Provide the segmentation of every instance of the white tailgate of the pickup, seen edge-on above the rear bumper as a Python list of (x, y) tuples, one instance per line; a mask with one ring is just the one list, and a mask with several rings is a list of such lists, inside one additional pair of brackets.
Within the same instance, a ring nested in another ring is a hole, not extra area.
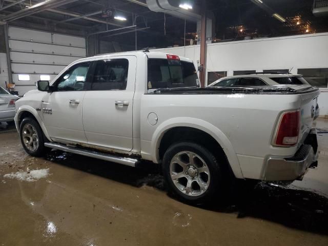
[(303, 91), (299, 94), (301, 99), (301, 129), (299, 139), (301, 139), (302, 143), (312, 129), (319, 94), (319, 89), (313, 89), (313, 87), (310, 92)]

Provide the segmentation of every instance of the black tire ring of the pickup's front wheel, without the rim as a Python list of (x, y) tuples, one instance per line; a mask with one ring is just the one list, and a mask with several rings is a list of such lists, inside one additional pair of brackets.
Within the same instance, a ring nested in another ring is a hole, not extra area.
[[(28, 149), (23, 140), (23, 129), (24, 129), (24, 126), (26, 126), (27, 124), (31, 125), (37, 132), (36, 138), (38, 140), (38, 145), (37, 145), (37, 148), (35, 148), (35, 150)], [(19, 137), (20, 137), (20, 142), (22, 142), (22, 146), (23, 146), (25, 152), (28, 153), (29, 155), (43, 156), (46, 153), (46, 150), (48, 148), (45, 147), (44, 134), (43, 134), (43, 131), (40, 128), (38, 122), (36, 122), (35, 119), (27, 117), (22, 120), (22, 122), (20, 123), (20, 126), (19, 126)]]

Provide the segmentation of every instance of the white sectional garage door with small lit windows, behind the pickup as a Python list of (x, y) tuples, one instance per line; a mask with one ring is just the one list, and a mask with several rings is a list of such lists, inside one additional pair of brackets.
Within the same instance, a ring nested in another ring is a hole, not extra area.
[(86, 57), (84, 37), (9, 27), (13, 82), (19, 95), (37, 80), (52, 80), (72, 61)]

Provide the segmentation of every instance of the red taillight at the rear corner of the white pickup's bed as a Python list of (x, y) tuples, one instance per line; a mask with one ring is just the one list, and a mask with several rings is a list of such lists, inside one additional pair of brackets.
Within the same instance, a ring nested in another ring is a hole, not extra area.
[(294, 146), (298, 141), (300, 112), (290, 111), (281, 115), (275, 137), (276, 146)]

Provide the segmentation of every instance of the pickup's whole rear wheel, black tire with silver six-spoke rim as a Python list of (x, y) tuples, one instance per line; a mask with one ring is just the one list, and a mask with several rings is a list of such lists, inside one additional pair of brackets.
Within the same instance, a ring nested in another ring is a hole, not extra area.
[(217, 158), (193, 142), (179, 142), (169, 147), (162, 168), (170, 192), (183, 201), (205, 203), (216, 199), (223, 190)]

